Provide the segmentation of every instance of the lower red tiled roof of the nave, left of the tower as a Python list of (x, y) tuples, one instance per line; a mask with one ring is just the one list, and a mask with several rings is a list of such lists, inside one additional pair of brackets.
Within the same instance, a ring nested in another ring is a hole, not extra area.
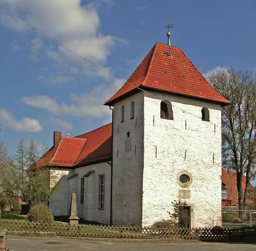
[(34, 167), (82, 166), (111, 156), (112, 124), (87, 132), (77, 137), (61, 137), (56, 147), (51, 147)]

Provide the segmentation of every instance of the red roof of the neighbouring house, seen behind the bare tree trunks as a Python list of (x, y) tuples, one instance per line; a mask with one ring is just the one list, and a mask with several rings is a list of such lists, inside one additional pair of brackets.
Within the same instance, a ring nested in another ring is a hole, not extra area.
[[(237, 175), (233, 171), (226, 171), (222, 168), (222, 182), (225, 184), (225, 187), (227, 188), (227, 199), (231, 199), (231, 205), (238, 205), (238, 188), (237, 188)], [(242, 189), (243, 193), (245, 190), (245, 184), (246, 184), (246, 176), (243, 176), (242, 178)], [(250, 195), (248, 196), (248, 203), (252, 203), (253, 200), (253, 186), (251, 183), (249, 184), (248, 191), (250, 192)], [(228, 195), (230, 194), (230, 195)]]

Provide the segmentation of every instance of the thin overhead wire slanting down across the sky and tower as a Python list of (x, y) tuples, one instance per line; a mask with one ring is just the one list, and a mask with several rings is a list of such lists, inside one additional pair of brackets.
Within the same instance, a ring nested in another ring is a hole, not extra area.
[[(8, 12), (7, 10), (4, 10), (3, 8), (0, 8), (0, 10), (2, 10), (3, 12), (5, 12), (5, 13), (8, 14), (9, 16), (15, 18), (16, 20), (20, 21), (21, 23), (25, 24), (25, 25), (28, 26), (29, 28), (32, 28), (35, 32), (39, 33), (40, 35), (45, 36), (47, 39), (50, 39), (50, 40), (53, 41), (55, 44), (58, 44), (60, 47), (63, 47), (64, 49), (68, 50), (69, 52), (71, 52), (71, 53), (77, 55), (78, 57), (82, 58), (83, 60), (86, 60), (87, 62), (91, 63), (92, 65), (94, 65), (94, 66), (96, 66), (96, 67), (98, 67), (98, 68), (100, 68), (101, 70), (103, 70), (103, 71), (105, 71), (105, 72), (107, 72), (107, 73), (113, 75), (114, 77), (116, 77), (116, 78), (118, 78), (118, 79), (124, 81), (125, 83), (128, 83), (129, 85), (132, 85), (134, 88), (137, 88), (138, 90), (143, 91), (144, 93), (147, 93), (148, 95), (152, 96), (153, 98), (160, 99), (162, 102), (164, 102), (164, 103), (166, 103), (166, 104), (170, 104), (170, 105), (172, 105), (173, 107), (175, 107), (175, 108), (177, 108), (177, 109), (179, 109), (179, 110), (181, 110), (181, 111), (183, 111), (183, 112), (185, 112), (185, 113), (187, 113), (187, 114), (190, 114), (190, 115), (192, 115), (192, 116), (195, 116), (195, 117), (198, 118), (198, 119), (201, 119), (200, 116), (197, 116), (197, 115), (192, 114), (192, 113), (190, 113), (190, 112), (188, 112), (188, 111), (185, 111), (184, 109), (181, 109), (181, 108), (179, 108), (179, 107), (177, 107), (177, 106), (174, 106), (173, 104), (171, 104), (170, 101), (162, 100), (161, 98), (158, 98), (158, 97), (155, 96), (154, 94), (152, 94), (152, 93), (150, 93), (150, 92), (148, 92), (148, 91), (145, 91), (145, 90), (143, 90), (142, 88), (137, 87), (136, 85), (133, 85), (132, 83), (129, 83), (129, 82), (128, 82), (127, 80), (125, 80), (124, 78), (119, 77), (118, 75), (114, 74), (113, 72), (110, 72), (110, 71), (107, 70), (106, 68), (104, 68), (104, 67), (102, 67), (102, 66), (100, 66), (100, 65), (98, 65), (98, 64), (96, 64), (96, 63), (94, 63), (94, 62), (92, 62), (91, 60), (88, 60), (86, 57), (83, 57), (82, 55), (78, 54), (77, 52), (74, 52), (73, 50), (71, 50), (71, 49), (69, 49), (68, 47), (64, 46), (63, 44), (61, 44), (60, 42), (56, 41), (55, 39), (51, 38), (51, 37), (48, 36), (47, 34), (45, 34), (45, 33), (41, 32), (41, 31), (39, 31), (37, 28), (34, 28), (34, 27), (31, 26), (29, 23), (26, 23), (25, 21), (21, 20), (20, 18), (14, 16), (14, 15), (11, 14), (10, 12)], [(210, 122), (210, 121), (209, 121), (208, 123), (210, 123), (210, 124), (212, 124), (212, 125), (214, 125), (214, 126), (216, 126), (216, 127), (221, 128), (221, 126), (216, 125), (216, 124), (214, 124), (214, 123), (212, 123), (212, 122)], [(237, 134), (237, 135), (240, 135), (240, 134), (238, 134), (237, 132), (232, 132), (232, 133)], [(240, 136), (242, 136), (242, 135), (240, 135)]]

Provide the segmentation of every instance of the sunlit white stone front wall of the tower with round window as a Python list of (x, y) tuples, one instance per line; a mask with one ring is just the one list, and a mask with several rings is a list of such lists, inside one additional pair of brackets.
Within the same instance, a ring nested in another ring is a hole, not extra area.
[[(189, 190), (190, 199), (182, 200), (194, 206), (192, 227), (220, 225), (221, 106), (171, 94), (154, 94), (159, 99), (147, 94), (144, 97), (142, 224), (168, 219), (167, 211), (172, 212), (171, 202), (178, 200), (179, 190)], [(171, 101), (173, 120), (160, 118), (161, 100)], [(201, 120), (203, 107), (209, 109), (210, 122)], [(187, 188), (177, 183), (177, 173), (182, 170), (193, 176)]]

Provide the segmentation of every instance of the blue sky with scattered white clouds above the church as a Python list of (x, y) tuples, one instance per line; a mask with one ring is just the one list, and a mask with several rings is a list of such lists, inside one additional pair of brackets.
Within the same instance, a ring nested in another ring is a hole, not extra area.
[[(0, 0), (0, 7), (127, 79), (156, 41), (180, 47), (203, 74), (256, 73), (256, 1)], [(74, 56), (0, 10), (0, 140), (11, 153), (53, 131), (76, 136), (111, 122), (104, 102), (122, 81)]]

